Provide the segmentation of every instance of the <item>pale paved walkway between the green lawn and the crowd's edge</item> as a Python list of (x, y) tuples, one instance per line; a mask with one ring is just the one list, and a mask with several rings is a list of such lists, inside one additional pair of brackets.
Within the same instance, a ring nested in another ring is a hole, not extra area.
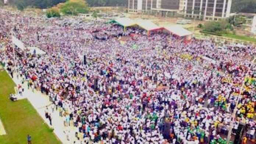
[[(10, 76), (10, 74), (9, 74)], [(11, 76), (10, 76), (11, 78)], [(16, 85), (21, 84), (21, 78), (17, 78), (16, 73), (13, 74), (13, 81)], [(54, 129), (54, 134), (57, 136), (57, 138), (61, 141), (63, 144), (73, 144), (75, 138), (75, 132), (78, 132), (78, 128), (74, 127), (73, 125), (70, 126), (64, 126), (64, 117), (59, 116), (59, 112), (56, 111), (56, 108), (54, 109), (54, 112), (52, 112), (52, 109), (50, 108), (50, 105), (52, 102), (50, 102), (49, 97), (45, 94), (42, 94), (40, 91), (34, 90), (34, 93), (32, 92), (32, 89), (28, 89), (27, 82), (24, 84), (21, 84), (22, 88), (24, 88), (24, 92), (22, 93), (22, 96), (24, 98), (27, 98), (28, 101), (33, 105), (33, 107), (36, 109), (38, 114), (42, 117), (42, 119), (45, 121), (45, 123)], [(23, 98), (23, 99), (24, 99)], [(52, 117), (52, 126), (50, 125), (49, 119), (45, 118), (45, 109), (46, 106), (48, 107), (48, 111), (51, 114)], [(69, 141), (67, 140), (67, 135), (64, 133), (64, 130), (67, 132), (70, 130), (69, 135)]]

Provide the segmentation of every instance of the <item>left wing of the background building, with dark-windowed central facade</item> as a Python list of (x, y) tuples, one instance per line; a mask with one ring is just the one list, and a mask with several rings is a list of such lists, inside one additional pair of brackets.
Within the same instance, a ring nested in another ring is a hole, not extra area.
[(128, 0), (128, 12), (175, 15), (184, 11), (185, 0)]

